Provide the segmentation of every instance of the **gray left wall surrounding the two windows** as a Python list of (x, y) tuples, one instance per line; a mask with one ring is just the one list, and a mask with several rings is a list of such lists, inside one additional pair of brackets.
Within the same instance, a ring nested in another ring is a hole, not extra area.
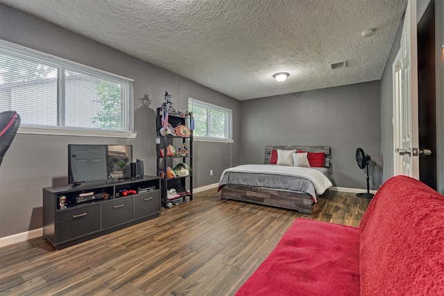
[(42, 187), (67, 183), (68, 143), (132, 144), (155, 175), (155, 108), (165, 89), (176, 110), (187, 110), (189, 97), (233, 110), (234, 143), (195, 142), (194, 186), (217, 183), (223, 168), (239, 164), (239, 101), (4, 4), (0, 39), (134, 79), (137, 132), (136, 139), (17, 134), (0, 168), (0, 237), (42, 227)]

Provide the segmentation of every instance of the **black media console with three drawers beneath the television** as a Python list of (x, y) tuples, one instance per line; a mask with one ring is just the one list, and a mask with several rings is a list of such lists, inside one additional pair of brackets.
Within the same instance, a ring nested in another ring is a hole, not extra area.
[(43, 189), (43, 236), (56, 250), (159, 216), (160, 177)]

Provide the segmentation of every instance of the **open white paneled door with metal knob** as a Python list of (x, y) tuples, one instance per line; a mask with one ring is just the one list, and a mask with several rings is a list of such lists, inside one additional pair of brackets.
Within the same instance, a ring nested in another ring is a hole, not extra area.
[(409, 0), (400, 52), (393, 63), (393, 159), (395, 175), (407, 175), (419, 180), (416, 40), (416, 0)]

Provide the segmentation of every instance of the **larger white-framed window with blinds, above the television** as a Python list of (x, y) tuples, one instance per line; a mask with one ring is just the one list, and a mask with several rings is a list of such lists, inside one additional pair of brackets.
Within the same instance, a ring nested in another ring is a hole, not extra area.
[(0, 42), (0, 111), (21, 130), (133, 137), (133, 104), (133, 80)]

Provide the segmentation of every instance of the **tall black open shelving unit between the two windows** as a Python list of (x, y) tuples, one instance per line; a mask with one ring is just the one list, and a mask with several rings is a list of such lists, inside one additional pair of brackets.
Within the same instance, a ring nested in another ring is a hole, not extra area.
[[(186, 125), (189, 127), (189, 116), (174, 116), (169, 114), (168, 123), (173, 128), (178, 125)], [(189, 137), (173, 136), (167, 134), (163, 136), (160, 134), (162, 128), (162, 108), (157, 108), (156, 116), (156, 150), (157, 150), (157, 174), (160, 176), (160, 200), (162, 207), (171, 208), (174, 204), (182, 202), (189, 202), (193, 200), (193, 134)], [(186, 156), (167, 156), (168, 146), (172, 145), (178, 153), (182, 144), (185, 144), (188, 149)], [(160, 155), (160, 150), (163, 149), (164, 155)], [(167, 168), (174, 168), (176, 165), (183, 163), (189, 167), (189, 175), (168, 177)], [(178, 198), (170, 199), (168, 191), (175, 189), (177, 193), (185, 192)]]

